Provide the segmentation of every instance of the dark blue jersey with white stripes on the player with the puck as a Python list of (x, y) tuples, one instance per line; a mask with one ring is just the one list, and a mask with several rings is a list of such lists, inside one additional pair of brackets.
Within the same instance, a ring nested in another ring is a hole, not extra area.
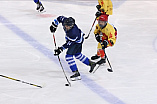
[[(64, 16), (59, 16), (57, 19), (54, 19), (54, 23), (58, 26), (59, 23), (63, 23), (67, 18)], [(65, 39), (66, 43), (62, 45), (63, 49), (69, 48), (73, 44), (82, 44), (84, 41), (84, 33), (77, 27), (75, 24), (70, 30), (66, 31), (64, 26), (63, 29), (66, 33)]]

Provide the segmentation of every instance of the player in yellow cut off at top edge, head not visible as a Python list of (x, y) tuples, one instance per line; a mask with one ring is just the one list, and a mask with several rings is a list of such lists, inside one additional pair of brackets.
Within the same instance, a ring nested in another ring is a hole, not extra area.
[[(106, 15), (107, 18), (109, 15), (112, 15), (113, 5), (111, 0), (98, 0), (99, 5), (96, 6), (98, 11), (96, 12), (96, 17), (100, 15)], [(99, 19), (99, 18), (97, 18)]]

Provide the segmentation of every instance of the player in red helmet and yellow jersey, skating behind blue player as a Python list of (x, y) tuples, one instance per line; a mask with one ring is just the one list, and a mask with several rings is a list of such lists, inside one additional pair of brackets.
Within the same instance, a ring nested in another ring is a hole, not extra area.
[(92, 56), (91, 59), (99, 59), (96, 64), (106, 63), (105, 48), (113, 46), (117, 39), (117, 29), (110, 25), (107, 15), (101, 15), (94, 30), (95, 38), (98, 41), (97, 54)]

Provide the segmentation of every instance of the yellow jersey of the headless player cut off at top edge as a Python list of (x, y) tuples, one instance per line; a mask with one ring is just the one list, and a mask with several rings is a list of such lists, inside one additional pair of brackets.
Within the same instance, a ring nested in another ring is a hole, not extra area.
[(111, 0), (98, 0), (98, 3), (101, 5), (101, 11), (104, 11), (107, 15), (112, 15), (113, 5)]

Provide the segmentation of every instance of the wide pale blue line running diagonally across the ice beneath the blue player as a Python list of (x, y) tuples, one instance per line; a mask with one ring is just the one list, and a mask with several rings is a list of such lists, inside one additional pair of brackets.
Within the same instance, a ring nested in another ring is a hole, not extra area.
[[(12, 24), (10, 21), (8, 21), (6, 18), (4, 18), (1, 15), (0, 15), (0, 22), (8, 29), (10, 29), (13, 33), (15, 33), (20, 38), (22, 38), (27, 43), (29, 43), (31, 46), (33, 46), (35, 49), (37, 49), (45, 56), (47, 56), (49, 59), (51, 59), (54, 63), (58, 64), (58, 61), (56, 61), (57, 58), (54, 57), (53, 52), (50, 49), (40, 44), (37, 40), (33, 39), (33, 37), (31, 37), (29, 34), (22, 31), (20, 28)], [(68, 70), (68, 68), (66, 68), (66, 70)], [(86, 75), (82, 75), (82, 83), (90, 90), (92, 90), (94, 93), (96, 93), (98, 96), (103, 98), (105, 101), (109, 102), (110, 104), (125, 104), (119, 98), (115, 97), (107, 90), (105, 90), (103, 87), (96, 84), (92, 79), (88, 78)]]

